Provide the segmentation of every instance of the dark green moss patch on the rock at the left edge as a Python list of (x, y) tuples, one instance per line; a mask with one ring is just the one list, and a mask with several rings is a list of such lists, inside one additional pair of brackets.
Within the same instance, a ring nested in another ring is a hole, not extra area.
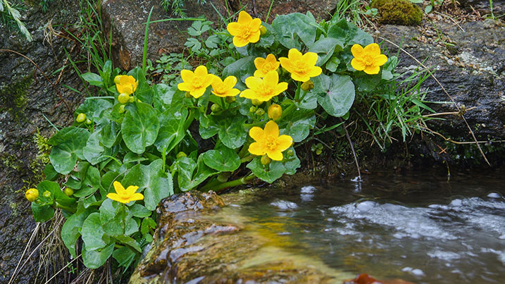
[(19, 120), (27, 104), (26, 91), (32, 85), (32, 75), (16, 80), (11, 85), (0, 85), (0, 111), (8, 111)]

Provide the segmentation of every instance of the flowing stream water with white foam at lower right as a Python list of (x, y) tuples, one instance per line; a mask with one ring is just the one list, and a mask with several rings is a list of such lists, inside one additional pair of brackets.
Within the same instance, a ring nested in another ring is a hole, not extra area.
[(505, 176), (366, 175), (230, 206), (275, 247), (349, 273), (505, 283)]

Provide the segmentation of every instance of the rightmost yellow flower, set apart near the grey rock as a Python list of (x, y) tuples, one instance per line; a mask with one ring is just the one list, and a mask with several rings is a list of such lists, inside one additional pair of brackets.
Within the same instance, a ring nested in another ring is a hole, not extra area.
[(351, 47), (351, 66), (358, 71), (365, 71), (367, 74), (378, 74), (380, 66), (387, 61), (387, 56), (380, 54), (379, 44), (368, 44), (364, 49), (359, 44)]

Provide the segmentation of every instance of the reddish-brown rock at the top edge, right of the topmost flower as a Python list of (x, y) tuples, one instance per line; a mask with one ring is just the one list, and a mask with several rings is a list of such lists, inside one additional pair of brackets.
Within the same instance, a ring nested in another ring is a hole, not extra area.
[[(242, 6), (246, 7), (245, 10), (251, 14), (256, 15), (256, 18), (261, 18), (261, 20), (266, 20), (266, 16), (270, 9), (270, 0), (256, 0), (256, 11), (254, 11), (252, 0), (243, 1), (231, 1), (232, 8), (238, 11)], [(338, 0), (276, 0), (273, 1), (273, 6), (268, 16), (268, 23), (272, 23), (276, 15), (285, 15), (289, 13), (307, 13), (310, 11), (316, 20), (325, 19), (328, 20), (332, 16), (332, 12), (335, 11), (337, 7)]]

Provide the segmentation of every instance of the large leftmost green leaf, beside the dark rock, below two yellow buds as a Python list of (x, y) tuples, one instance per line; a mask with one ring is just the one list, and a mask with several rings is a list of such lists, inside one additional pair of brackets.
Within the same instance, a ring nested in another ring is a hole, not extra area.
[(52, 145), (49, 160), (54, 169), (63, 175), (70, 173), (77, 158), (85, 159), (82, 149), (86, 146), (89, 132), (82, 128), (63, 128), (51, 137), (48, 144)]

